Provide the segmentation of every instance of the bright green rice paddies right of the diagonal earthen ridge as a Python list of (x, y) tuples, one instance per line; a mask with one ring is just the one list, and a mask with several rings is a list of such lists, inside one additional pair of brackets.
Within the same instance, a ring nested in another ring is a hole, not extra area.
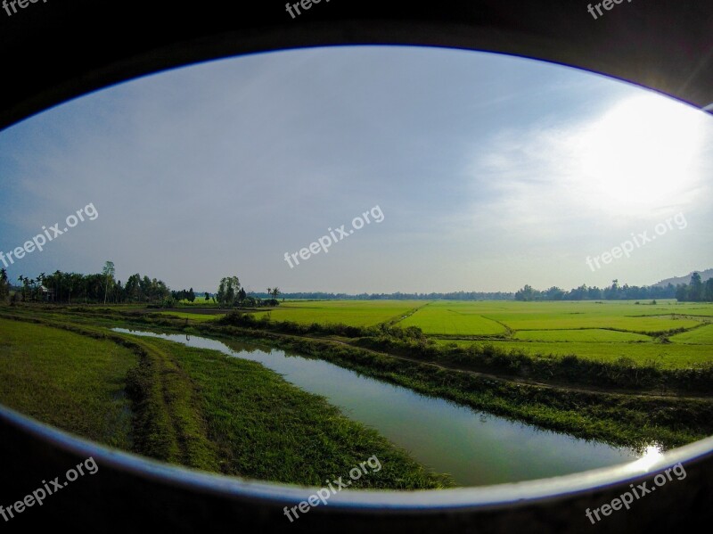
[[(453, 316), (457, 312), (457, 322)], [(440, 344), (492, 343), (531, 355), (569, 355), (683, 367), (713, 360), (713, 305), (661, 301), (433, 302), (400, 325), (422, 325)], [(484, 321), (485, 320), (485, 321)], [(489, 323), (503, 325), (493, 336)], [(670, 333), (685, 329), (684, 333)], [(483, 336), (485, 339), (473, 340)], [(487, 338), (491, 337), (490, 340)], [(459, 339), (461, 338), (461, 339)]]

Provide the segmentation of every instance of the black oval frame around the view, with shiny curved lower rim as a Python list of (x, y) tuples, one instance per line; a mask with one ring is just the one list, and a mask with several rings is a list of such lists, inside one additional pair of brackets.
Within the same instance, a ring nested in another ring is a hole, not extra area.
[[(307, 2), (307, 0), (305, 0)], [(310, 0), (311, 2), (312, 0)], [(62, 0), (0, 11), (0, 128), (88, 92), (245, 53), (325, 45), (428, 45), (508, 53), (601, 72), (713, 112), (713, 6), (704, 0), (585, 2), (333, 0), (291, 19), (281, 2), (176, 6)], [(48, 399), (51, 401), (51, 399)], [(88, 456), (84, 477), (4, 524), (77, 531), (658, 532), (713, 518), (713, 438), (636, 471), (618, 466), (542, 481), (425, 492), (345, 492), (290, 522), (284, 506), (315, 489), (243, 481), (102, 448), (0, 407), (0, 504), (12, 504)], [(686, 477), (593, 525), (611, 503), (681, 463)], [(0, 522), (3, 524), (3, 522)]]

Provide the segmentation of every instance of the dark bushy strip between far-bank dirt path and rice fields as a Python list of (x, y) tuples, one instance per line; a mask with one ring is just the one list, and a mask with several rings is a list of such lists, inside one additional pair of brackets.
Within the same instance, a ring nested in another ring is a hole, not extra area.
[[(397, 356), (436, 362), (455, 369), (499, 374), (511, 378), (536, 380), (572, 386), (627, 390), (677, 390), (681, 392), (713, 394), (713, 362), (706, 346), (685, 346), (697, 349), (701, 360), (684, 366), (664, 366), (659, 361), (636, 361), (630, 357), (578, 357), (563, 354), (530, 354), (512, 342), (433, 341), (414, 326), (398, 328), (390, 325), (356, 327), (349, 325), (299, 325), (289, 321), (274, 322), (240, 312), (230, 313), (217, 325), (237, 326), (253, 332), (287, 333), (299, 336), (334, 336), (357, 347), (373, 349)], [(210, 328), (211, 325), (208, 324)], [(534, 343), (524, 343), (534, 345)], [(563, 345), (564, 343), (561, 343)], [(569, 345), (572, 345), (568, 343)], [(550, 344), (552, 347), (556, 344)], [(669, 345), (659, 345), (668, 348)], [(644, 348), (645, 349), (645, 348)], [(611, 351), (616, 350), (610, 347)], [(669, 359), (676, 359), (669, 357)]]

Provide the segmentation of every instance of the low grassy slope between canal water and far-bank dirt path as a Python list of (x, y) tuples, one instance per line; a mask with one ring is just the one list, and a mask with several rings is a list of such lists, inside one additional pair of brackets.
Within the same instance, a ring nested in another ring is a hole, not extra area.
[(713, 403), (709, 399), (560, 390), (398, 359), (334, 341), (229, 325), (204, 324), (197, 329), (213, 337), (265, 340), (427, 395), (612, 445), (643, 448), (655, 441), (671, 448), (713, 433)]

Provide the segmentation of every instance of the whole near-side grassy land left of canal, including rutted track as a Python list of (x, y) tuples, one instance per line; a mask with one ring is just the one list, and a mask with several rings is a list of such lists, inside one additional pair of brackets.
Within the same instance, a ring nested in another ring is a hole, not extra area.
[(24, 311), (17, 314), (21, 321), (0, 318), (0, 401), (45, 423), (169, 463), (250, 479), (320, 486), (377, 456), (381, 471), (354, 488), (453, 484), (325, 398), (255, 362), (111, 333), (86, 314), (76, 324), (73, 316), (61, 321), (58, 310), (49, 319)]

